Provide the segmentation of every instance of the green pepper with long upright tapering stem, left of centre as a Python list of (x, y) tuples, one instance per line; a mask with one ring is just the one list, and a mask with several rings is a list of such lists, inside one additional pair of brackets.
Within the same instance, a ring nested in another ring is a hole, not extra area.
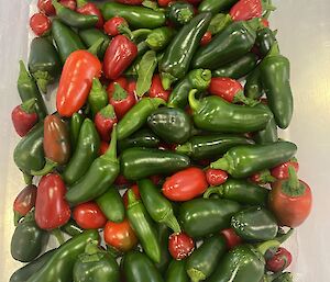
[(117, 129), (114, 126), (108, 150), (95, 159), (86, 174), (69, 188), (65, 195), (66, 200), (72, 204), (79, 204), (102, 195), (114, 182), (119, 170)]

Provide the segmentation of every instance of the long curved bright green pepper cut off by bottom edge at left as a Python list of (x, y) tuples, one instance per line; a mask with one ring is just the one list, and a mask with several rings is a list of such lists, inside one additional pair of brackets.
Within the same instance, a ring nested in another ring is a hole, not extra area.
[(73, 269), (78, 256), (81, 255), (90, 240), (98, 240), (96, 230), (87, 230), (63, 244), (44, 264), (26, 282), (73, 281)]

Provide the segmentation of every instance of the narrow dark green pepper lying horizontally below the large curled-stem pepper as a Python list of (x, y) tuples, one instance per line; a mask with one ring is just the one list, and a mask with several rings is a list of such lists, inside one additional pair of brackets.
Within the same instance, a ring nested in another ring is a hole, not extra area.
[(253, 144), (253, 140), (239, 135), (193, 136), (187, 143), (176, 147), (176, 151), (188, 155), (193, 159), (215, 159), (230, 148), (239, 145)]

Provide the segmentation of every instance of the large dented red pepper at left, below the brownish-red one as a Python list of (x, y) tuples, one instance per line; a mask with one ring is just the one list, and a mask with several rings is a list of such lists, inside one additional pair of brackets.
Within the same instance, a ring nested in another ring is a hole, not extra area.
[(40, 228), (55, 229), (69, 221), (72, 211), (65, 193), (65, 183), (58, 174), (50, 173), (41, 179), (35, 201), (35, 222)]

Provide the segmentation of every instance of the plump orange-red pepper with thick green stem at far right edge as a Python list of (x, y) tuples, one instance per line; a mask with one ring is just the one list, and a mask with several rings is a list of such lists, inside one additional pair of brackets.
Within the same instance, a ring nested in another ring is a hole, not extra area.
[(288, 168), (288, 173), (289, 179), (272, 184), (268, 206), (279, 225), (297, 227), (310, 213), (312, 195), (309, 185), (297, 178), (294, 167)]

